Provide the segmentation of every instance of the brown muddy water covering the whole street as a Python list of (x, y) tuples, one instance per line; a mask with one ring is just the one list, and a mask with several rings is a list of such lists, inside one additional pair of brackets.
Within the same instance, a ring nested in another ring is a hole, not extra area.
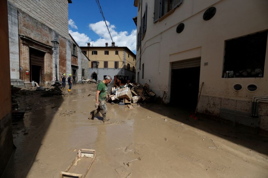
[(267, 137), (206, 118), (187, 121), (189, 112), (156, 104), (107, 104), (108, 123), (101, 115), (88, 120), (95, 88), (22, 97), (34, 109), (13, 129), (17, 149), (3, 177), (59, 177), (81, 148), (96, 150), (86, 177), (268, 177)]

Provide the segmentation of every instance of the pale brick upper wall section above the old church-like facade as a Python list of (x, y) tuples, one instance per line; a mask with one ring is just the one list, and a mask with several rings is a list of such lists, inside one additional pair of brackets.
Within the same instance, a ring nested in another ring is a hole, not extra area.
[(9, 2), (51, 29), (55, 29), (63, 37), (69, 38), (67, 0), (9, 0)]

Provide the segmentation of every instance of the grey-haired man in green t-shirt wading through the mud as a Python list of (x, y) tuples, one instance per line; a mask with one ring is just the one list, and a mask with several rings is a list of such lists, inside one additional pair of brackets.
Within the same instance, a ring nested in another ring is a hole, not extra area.
[[(111, 76), (106, 76), (103, 81), (101, 81), (97, 86), (97, 93), (96, 93), (96, 104), (95, 108), (97, 108), (94, 113), (92, 112), (91, 119), (94, 119), (94, 116), (101, 111), (103, 122), (108, 121), (109, 119), (106, 118), (107, 107), (106, 107), (106, 95), (108, 90), (108, 85), (112, 81)], [(90, 118), (90, 117), (89, 117)]]

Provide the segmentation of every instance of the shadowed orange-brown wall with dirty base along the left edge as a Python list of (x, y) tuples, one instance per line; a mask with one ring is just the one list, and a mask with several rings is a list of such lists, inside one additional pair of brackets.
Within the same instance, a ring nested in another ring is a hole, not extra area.
[(0, 176), (13, 151), (7, 0), (0, 1)]

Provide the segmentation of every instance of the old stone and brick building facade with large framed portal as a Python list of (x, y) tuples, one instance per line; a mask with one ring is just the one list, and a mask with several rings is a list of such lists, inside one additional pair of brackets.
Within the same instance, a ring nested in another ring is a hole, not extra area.
[[(68, 32), (68, 3), (72, 1), (8, 1), (11, 84), (53, 83), (56, 66), (58, 80), (61, 73), (79, 69), (81, 55), (72, 55), (74, 40)], [(59, 42), (56, 55), (54, 39)]]

